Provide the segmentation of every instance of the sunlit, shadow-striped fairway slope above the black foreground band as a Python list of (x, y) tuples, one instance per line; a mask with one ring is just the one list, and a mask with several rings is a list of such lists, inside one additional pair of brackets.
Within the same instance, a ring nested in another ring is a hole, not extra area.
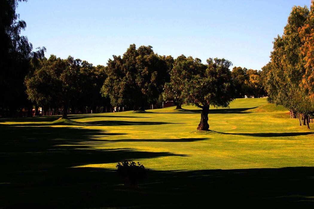
[[(265, 98), (211, 107), (210, 132), (196, 131), (200, 109), (174, 108), (69, 116), (74, 122), (53, 123), (57, 117), (0, 119), (2, 153), (22, 159), (10, 166), (42, 169), (58, 163), (114, 169), (124, 159), (156, 170), (314, 166), (313, 132)], [(29, 162), (36, 153), (48, 157), (46, 163)]]

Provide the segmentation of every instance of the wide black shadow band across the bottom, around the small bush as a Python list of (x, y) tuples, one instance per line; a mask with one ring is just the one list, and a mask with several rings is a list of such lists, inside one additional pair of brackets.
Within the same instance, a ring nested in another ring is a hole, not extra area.
[[(7, 207), (207, 208), (313, 206), (313, 167), (237, 170), (149, 170), (138, 189), (125, 189), (115, 170), (70, 168), (42, 171), (36, 184), (2, 184)], [(41, 176), (42, 175), (42, 176)]]

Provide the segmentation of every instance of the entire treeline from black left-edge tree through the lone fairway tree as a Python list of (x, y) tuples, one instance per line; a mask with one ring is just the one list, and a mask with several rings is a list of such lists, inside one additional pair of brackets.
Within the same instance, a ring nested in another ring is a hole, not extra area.
[[(122, 56), (113, 55), (107, 66), (93, 66), (87, 61), (44, 56), (45, 47), (33, 51), (27, 37), (20, 36), (26, 23), (15, 13), (18, 2), (7, 0), (1, 7), (0, 117), (32, 116), (33, 107), (53, 110), (62, 118), (68, 114), (106, 112), (113, 107), (144, 111), (150, 104), (174, 101), (202, 108), (198, 129), (208, 130), (209, 105), (227, 107), (236, 97), (265, 96), (261, 72), (234, 67), (225, 59), (207, 60), (158, 55), (152, 46), (136, 48), (131, 44)], [(109, 111), (108, 111), (109, 112)]]

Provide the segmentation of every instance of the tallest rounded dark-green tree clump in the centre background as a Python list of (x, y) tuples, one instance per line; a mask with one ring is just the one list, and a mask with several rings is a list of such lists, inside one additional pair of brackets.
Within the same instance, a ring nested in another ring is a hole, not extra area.
[(123, 56), (113, 56), (106, 67), (106, 78), (101, 92), (114, 106), (131, 105), (134, 110), (146, 103), (158, 101), (164, 84), (169, 80), (171, 56), (154, 53), (151, 46), (130, 45)]

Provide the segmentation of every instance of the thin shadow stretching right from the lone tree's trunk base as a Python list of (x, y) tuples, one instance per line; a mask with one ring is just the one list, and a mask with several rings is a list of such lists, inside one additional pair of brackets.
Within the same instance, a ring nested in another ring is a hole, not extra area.
[(212, 131), (214, 133), (228, 134), (228, 135), (241, 135), (241, 136), (253, 136), (253, 137), (287, 137), (287, 136), (306, 136), (314, 134), (314, 132), (285, 132), (285, 133), (224, 133), (218, 131)]

